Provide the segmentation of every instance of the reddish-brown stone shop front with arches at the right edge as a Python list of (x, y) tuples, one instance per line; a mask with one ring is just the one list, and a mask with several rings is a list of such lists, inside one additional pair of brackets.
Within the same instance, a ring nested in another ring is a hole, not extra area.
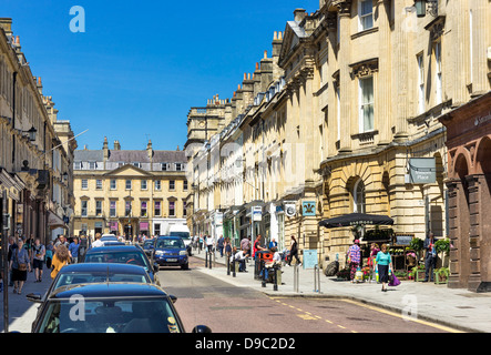
[(447, 128), (449, 287), (491, 292), (491, 92), (440, 118)]

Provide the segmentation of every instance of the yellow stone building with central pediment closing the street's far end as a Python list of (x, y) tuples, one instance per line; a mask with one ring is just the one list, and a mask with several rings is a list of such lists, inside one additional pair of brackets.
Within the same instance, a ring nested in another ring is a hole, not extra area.
[(78, 150), (74, 172), (74, 234), (162, 235), (171, 224), (186, 223), (183, 151)]

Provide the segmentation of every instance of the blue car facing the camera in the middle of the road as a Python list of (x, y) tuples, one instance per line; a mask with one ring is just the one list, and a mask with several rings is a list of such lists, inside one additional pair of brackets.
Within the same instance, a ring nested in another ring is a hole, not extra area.
[(155, 242), (154, 260), (161, 266), (190, 268), (186, 245), (180, 236), (158, 236)]

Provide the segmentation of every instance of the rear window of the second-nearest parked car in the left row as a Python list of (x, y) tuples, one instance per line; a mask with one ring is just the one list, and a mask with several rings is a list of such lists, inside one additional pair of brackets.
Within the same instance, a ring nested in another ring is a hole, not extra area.
[(92, 284), (98, 282), (137, 282), (137, 283), (151, 283), (149, 276), (142, 274), (122, 274), (122, 273), (70, 273), (60, 274), (57, 283), (53, 285), (53, 290), (75, 284)]

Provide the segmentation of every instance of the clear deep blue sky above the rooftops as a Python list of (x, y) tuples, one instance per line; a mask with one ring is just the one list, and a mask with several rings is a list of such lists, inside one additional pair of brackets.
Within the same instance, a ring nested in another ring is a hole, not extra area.
[[(73, 33), (73, 6), (85, 32)], [(182, 149), (191, 106), (214, 94), (232, 98), (254, 72), (274, 31), (296, 8), (318, 0), (149, 1), (1, 0), (43, 94), (70, 120), (79, 149), (102, 149), (104, 136), (124, 150)]]

